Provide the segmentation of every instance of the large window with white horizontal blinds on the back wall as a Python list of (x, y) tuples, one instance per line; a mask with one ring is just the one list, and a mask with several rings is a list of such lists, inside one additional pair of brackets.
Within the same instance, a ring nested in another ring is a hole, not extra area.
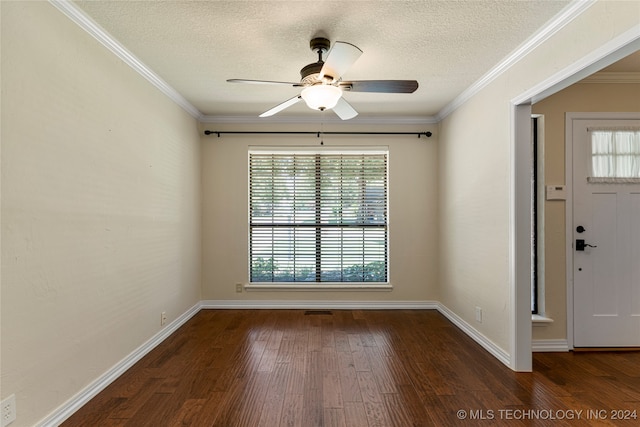
[(387, 157), (251, 150), (250, 281), (387, 282)]

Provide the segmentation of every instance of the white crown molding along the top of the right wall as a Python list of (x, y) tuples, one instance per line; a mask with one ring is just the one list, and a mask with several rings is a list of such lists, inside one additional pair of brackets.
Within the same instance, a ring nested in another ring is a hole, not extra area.
[(483, 88), (505, 73), (514, 64), (531, 53), (534, 49), (548, 40), (555, 33), (564, 28), (567, 24), (580, 16), (585, 10), (590, 8), (597, 0), (574, 0), (565, 7), (558, 15), (551, 19), (544, 27), (537, 31), (520, 47), (500, 61), (495, 67), (489, 70), (478, 81), (469, 86), (464, 92), (456, 97), (451, 103), (447, 104), (436, 115), (438, 121), (443, 120), (449, 114), (453, 113), (465, 102), (475, 96)]

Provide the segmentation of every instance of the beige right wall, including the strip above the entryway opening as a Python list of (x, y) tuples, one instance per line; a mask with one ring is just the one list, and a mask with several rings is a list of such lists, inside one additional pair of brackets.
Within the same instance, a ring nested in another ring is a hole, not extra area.
[(440, 124), (441, 301), (509, 354), (511, 100), (639, 23), (638, 2), (595, 3)]

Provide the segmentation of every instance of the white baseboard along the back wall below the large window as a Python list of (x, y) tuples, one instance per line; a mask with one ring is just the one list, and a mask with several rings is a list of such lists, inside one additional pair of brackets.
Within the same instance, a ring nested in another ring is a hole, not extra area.
[(208, 309), (290, 309), (290, 310), (435, 310), (437, 301), (282, 301), (282, 300), (203, 300)]

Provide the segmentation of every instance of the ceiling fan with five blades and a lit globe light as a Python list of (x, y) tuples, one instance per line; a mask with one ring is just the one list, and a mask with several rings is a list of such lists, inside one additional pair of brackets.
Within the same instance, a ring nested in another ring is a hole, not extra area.
[[(312, 39), (309, 45), (311, 50), (318, 54), (318, 61), (308, 64), (300, 70), (302, 78), (299, 83), (245, 79), (229, 79), (227, 81), (230, 83), (286, 85), (304, 88), (299, 95), (265, 111), (260, 114), (260, 117), (272, 116), (300, 100), (304, 100), (311, 109), (320, 111), (333, 109), (342, 120), (349, 120), (357, 116), (358, 112), (342, 97), (344, 91), (413, 93), (418, 88), (418, 82), (415, 80), (344, 81), (342, 75), (362, 55), (362, 51), (351, 43), (339, 41), (335, 42), (329, 50), (331, 42), (323, 37)], [(326, 52), (329, 53), (326, 61), (323, 61), (322, 56)]]

